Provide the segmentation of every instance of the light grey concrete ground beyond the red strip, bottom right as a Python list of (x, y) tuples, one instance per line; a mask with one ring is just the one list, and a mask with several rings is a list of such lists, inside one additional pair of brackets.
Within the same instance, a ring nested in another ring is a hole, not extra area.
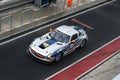
[(120, 52), (78, 80), (112, 80), (120, 73)]

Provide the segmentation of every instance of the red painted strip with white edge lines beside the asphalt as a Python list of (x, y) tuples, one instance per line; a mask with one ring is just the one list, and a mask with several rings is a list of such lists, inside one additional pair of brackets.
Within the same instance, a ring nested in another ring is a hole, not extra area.
[(45, 80), (74, 80), (85, 75), (120, 51), (120, 36)]

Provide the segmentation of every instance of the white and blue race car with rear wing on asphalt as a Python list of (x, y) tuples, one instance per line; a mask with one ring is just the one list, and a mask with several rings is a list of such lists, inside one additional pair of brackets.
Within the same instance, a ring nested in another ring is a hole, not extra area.
[[(72, 19), (72, 22), (92, 29), (77, 19)], [(36, 38), (30, 44), (28, 54), (39, 60), (51, 63), (61, 60), (62, 57), (72, 53), (77, 48), (85, 47), (87, 41), (88, 36), (81, 26), (62, 25), (54, 30), (50, 29), (50, 32)]]

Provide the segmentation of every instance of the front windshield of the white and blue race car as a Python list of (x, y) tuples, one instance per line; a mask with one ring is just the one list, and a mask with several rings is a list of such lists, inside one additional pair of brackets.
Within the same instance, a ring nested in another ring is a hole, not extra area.
[(55, 39), (56, 41), (59, 41), (59, 42), (65, 42), (65, 43), (68, 43), (69, 42), (69, 39), (70, 39), (70, 36), (58, 31), (58, 30), (54, 30), (50, 33), (50, 36)]

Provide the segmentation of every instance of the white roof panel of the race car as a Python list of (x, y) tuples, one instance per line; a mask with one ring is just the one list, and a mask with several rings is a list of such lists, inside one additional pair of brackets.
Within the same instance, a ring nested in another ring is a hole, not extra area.
[(58, 27), (57, 30), (70, 36), (78, 33), (78, 31), (74, 29), (74, 26), (67, 26), (67, 25), (62, 25)]

